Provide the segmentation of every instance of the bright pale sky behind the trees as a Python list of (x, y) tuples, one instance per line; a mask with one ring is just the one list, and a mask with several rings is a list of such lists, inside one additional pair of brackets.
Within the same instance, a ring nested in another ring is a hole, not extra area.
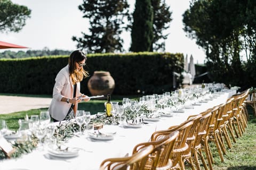
[[(82, 0), (12, 0), (13, 3), (25, 5), (31, 9), (31, 18), (27, 19), (25, 27), (18, 33), (0, 32), (0, 41), (29, 47), (30, 50), (42, 50), (47, 47), (50, 50), (76, 50), (76, 42), (71, 40), (73, 36), (82, 37), (81, 32), (88, 32), (89, 22), (84, 19), (83, 13), (78, 10)], [(128, 0), (131, 11), (135, 0)], [(194, 57), (195, 63), (204, 63), (205, 53), (183, 31), (182, 14), (189, 8), (189, 0), (166, 0), (172, 12), (170, 28), (164, 33), (169, 33), (165, 40), (165, 51), (170, 53), (183, 53)], [(130, 32), (122, 33), (124, 49), (128, 52), (131, 43)], [(5, 50), (28, 50), (5, 49)], [(4, 50), (1, 49), (0, 52)]]

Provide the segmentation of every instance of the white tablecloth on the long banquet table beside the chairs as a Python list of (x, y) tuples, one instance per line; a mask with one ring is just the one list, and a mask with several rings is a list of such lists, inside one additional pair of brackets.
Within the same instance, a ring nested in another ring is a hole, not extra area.
[(158, 122), (145, 124), (142, 128), (123, 128), (121, 126), (104, 125), (103, 131), (116, 132), (113, 140), (110, 141), (92, 141), (86, 135), (73, 137), (67, 143), (68, 147), (81, 148), (79, 155), (74, 158), (50, 159), (47, 150), (33, 152), (22, 155), (20, 158), (11, 158), (0, 162), (1, 170), (11, 169), (53, 169), (58, 167), (61, 170), (68, 169), (99, 169), (102, 160), (110, 157), (123, 157), (126, 154), (131, 155), (135, 145), (146, 142), (151, 134), (157, 130), (165, 130), (172, 125), (179, 125), (184, 122), (189, 115), (199, 114), (212, 108), (236, 94), (235, 90), (228, 90), (219, 97), (210, 100), (208, 103), (202, 103), (201, 106), (194, 106), (194, 109), (185, 109), (185, 113), (175, 113), (172, 117), (162, 117)]

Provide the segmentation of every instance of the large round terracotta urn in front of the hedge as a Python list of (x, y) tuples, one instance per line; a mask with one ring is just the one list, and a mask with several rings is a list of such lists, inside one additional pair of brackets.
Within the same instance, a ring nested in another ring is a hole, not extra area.
[(87, 86), (92, 96), (107, 96), (114, 91), (115, 81), (107, 71), (94, 71)]

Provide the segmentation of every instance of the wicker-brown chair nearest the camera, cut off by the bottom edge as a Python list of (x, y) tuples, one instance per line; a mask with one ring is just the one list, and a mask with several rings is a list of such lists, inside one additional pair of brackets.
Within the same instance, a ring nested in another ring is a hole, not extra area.
[[(154, 151), (154, 146), (149, 145), (144, 147), (136, 154), (129, 157), (108, 158), (103, 160), (100, 165), (100, 170), (142, 170), (145, 169), (147, 159)], [(154, 168), (151, 168), (154, 170)]]

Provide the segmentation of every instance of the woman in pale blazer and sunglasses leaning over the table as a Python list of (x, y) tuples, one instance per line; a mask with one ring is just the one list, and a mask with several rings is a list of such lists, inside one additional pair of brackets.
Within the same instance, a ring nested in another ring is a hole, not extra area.
[(80, 92), (80, 82), (89, 75), (83, 69), (86, 65), (85, 61), (85, 54), (81, 50), (75, 50), (69, 56), (68, 65), (57, 74), (49, 107), (49, 113), (54, 122), (74, 116), (78, 103), (82, 101), (81, 97), (85, 98), (85, 101), (90, 100)]

